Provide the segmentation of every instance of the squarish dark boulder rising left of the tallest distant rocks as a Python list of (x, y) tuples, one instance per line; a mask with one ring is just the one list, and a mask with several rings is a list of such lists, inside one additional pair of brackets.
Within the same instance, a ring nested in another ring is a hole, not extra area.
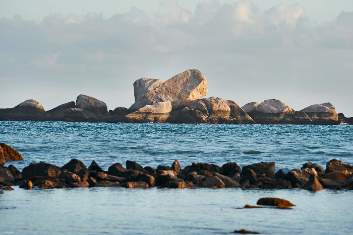
[(109, 115), (106, 104), (90, 96), (79, 95), (76, 99), (76, 108), (93, 112), (97, 117)]

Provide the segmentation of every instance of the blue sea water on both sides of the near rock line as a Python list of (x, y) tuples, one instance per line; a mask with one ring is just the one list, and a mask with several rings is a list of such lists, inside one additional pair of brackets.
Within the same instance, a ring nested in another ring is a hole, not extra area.
[[(240, 167), (275, 162), (353, 165), (351, 125), (221, 125), (0, 121), (0, 142), (24, 161), (64, 166), (71, 159), (103, 169), (127, 160), (143, 167), (192, 163)], [(353, 234), (353, 191), (303, 189), (68, 188), (0, 190), (0, 233), (10, 234)], [(296, 206), (237, 209), (278, 197)]]

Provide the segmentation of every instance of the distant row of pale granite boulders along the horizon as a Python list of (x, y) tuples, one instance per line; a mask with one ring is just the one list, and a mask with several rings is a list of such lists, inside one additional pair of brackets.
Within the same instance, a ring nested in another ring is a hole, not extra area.
[(109, 110), (100, 100), (79, 95), (74, 101), (49, 111), (35, 100), (0, 109), (0, 121), (67, 121), (127, 123), (221, 123), (221, 124), (353, 124), (353, 117), (337, 114), (331, 103), (314, 104), (295, 111), (280, 100), (236, 102), (207, 95), (206, 77), (196, 69), (164, 81), (143, 77), (134, 85), (135, 103), (130, 108)]

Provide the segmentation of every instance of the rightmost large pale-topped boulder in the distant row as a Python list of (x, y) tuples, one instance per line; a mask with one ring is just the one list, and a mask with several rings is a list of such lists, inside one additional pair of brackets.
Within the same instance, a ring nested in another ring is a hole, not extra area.
[(301, 110), (313, 121), (313, 124), (336, 124), (338, 114), (331, 103), (315, 104)]

